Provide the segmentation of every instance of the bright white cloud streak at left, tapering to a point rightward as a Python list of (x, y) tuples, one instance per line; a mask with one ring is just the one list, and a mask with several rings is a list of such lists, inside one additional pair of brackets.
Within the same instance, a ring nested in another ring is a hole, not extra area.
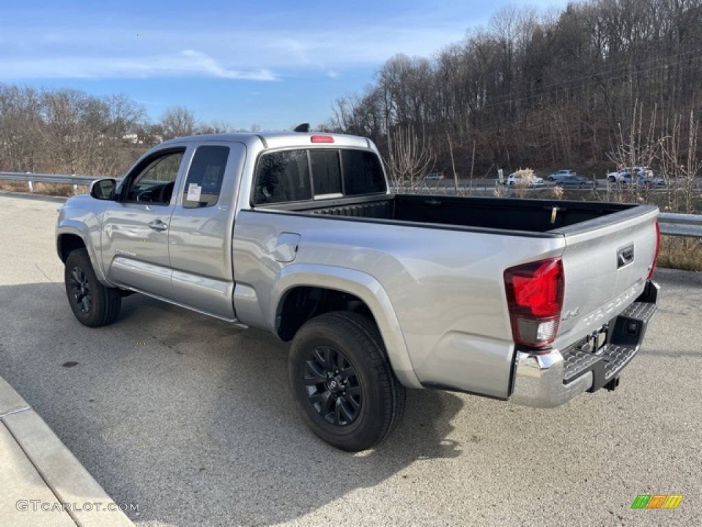
[(2, 58), (3, 79), (69, 79), (69, 78), (154, 78), (154, 77), (217, 77), (249, 81), (276, 81), (267, 68), (230, 70), (206, 53), (192, 49), (166, 55), (124, 57), (64, 56), (57, 58)]

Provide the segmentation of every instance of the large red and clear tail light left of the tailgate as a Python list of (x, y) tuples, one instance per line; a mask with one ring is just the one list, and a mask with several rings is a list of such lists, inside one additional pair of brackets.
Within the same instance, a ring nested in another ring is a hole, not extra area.
[(560, 258), (524, 263), (505, 271), (505, 291), (517, 344), (550, 346), (558, 332), (564, 289)]

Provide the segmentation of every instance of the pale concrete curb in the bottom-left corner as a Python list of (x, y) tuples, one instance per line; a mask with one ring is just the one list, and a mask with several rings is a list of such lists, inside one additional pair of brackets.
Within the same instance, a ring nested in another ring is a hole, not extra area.
[(134, 525), (44, 419), (2, 377), (0, 496), (0, 525)]

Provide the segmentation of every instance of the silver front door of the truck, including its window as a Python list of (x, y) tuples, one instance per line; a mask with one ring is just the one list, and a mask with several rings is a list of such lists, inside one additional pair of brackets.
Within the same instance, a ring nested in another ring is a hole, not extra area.
[(108, 204), (102, 263), (111, 282), (173, 299), (168, 228), (184, 155), (185, 147), (154, 152), (127, 174), (117, 201)]

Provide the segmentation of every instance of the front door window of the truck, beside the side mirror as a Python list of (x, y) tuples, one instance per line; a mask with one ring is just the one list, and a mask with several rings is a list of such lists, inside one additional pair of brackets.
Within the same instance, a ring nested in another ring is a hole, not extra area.
[(184, 153), (185, 150), (171, 151), (145, 160), (127, 181), (126, 201), (170, 203)]

